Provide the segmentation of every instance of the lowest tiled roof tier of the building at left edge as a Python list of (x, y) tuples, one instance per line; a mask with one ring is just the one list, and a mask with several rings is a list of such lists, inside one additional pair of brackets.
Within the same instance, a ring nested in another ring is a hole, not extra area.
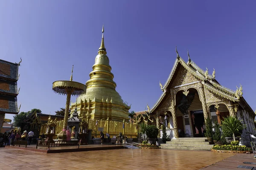
[(0, 113), (18, 113), (17, 97), (0, 95)]

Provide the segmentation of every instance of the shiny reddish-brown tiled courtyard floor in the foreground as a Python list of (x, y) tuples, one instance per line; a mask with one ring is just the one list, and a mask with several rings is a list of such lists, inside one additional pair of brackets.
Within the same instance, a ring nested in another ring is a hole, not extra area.
[(233, 153), (165, 149), (117, 149), (38, 153), (0, 148), (1, 170), (198, 170)]

